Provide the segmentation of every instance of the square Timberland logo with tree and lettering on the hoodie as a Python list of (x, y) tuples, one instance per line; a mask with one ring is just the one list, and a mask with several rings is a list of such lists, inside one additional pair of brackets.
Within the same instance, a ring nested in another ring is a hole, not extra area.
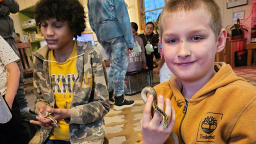
[(220, 124), (223, 114), (219, 113), (206, 113), (200, 121), (197, 142), (215, 142), (215, 130)]

